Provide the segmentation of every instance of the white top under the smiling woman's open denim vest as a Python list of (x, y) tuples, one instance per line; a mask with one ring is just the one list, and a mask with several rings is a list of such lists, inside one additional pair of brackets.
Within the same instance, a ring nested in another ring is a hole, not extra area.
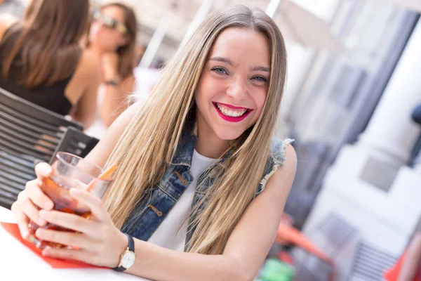
[(190, 172), (193, 176), (193, 181), (189, 184), (185, 192), (180, 196), (180, 199), (175, 203), (175, 206), (173, 209), (171, 209), (170, 213), (168, 216), (166, 216), (158, 229), (156, 229), (154, 234), (149, 238), (148, 242), (167, 249), (184, 251), (187, 226), (189, 223), (187, 217), (189, 216), (189, 211), (192, 207), (197, 179), (203, 173), (203, 171), (208, 169), (208, 167), (217, 161), (218, 159), (205, 157), (194, 150), (192, 168), (190, 169)]

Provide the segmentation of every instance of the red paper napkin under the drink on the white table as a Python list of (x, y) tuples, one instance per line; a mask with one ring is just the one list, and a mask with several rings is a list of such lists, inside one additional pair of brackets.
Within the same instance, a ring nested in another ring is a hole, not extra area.
[[(31, 249), (36, 255), (38, 255), (41, 259), (46, 261), (52, 268), (100, 268), (98, 266), (92, 266), (88, 263), (82, 263), (81, 261), (65, 261), (62, 259), (53, 259), (49, 258), (48, 256), (43, 256), (42, 250), (38, 249), (32, 244), (31, 242), (24, 240), (22, 236), (20, 236), (18, 225), (15, 223), (1, 223), (1, 226), (16, 240), (24, 244), (26, 247)], [(75, 250), (77, 251), (77, 250)]]

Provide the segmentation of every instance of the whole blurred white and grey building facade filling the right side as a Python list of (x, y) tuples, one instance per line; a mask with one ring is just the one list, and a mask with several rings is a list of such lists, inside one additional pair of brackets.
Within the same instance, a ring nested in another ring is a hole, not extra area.
[(281, 127), (298, 140), (299, 169), (286, 211), (329, 249), (338, 280), (381, 280), (421, 215), (421, 169), (406, 166), (420, 135), (410, 112), (421, 103), (421, 22), (387, 1), (347, 4), (335, 13), (347, 14), (346, 53), (310, 55), (306, 81), (287, 91)]

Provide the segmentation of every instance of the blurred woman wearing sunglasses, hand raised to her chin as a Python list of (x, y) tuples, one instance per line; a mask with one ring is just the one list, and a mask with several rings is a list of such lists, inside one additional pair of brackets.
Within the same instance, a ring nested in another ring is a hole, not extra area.
[(137, 21), (131, 8), (111, 3), (93, 12), (88, 48), (101, 60), (102, 84), (98, 126), (108, 127), (128, 106), (133, 91)]

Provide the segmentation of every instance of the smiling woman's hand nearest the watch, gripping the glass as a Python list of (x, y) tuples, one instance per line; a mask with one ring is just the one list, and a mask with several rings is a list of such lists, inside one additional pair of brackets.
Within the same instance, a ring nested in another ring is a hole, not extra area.
[(77, 249), (46, 248), (43, 251), (44, 256), (83, 261), (109, 268), (118, 266), (120, 256), (127, 248), (126, 235), (114, 226), (98, 197), (86, 190), (75, 188), (70, 190), (70, 195), (90, 209), (91, 217), (83, 218), (60, 211), (39, 211), (39, 216), (44, 221), (76, 231), (67, 233), (42, 228), (36, 230), (35, 235), (41, 240), (77, 247)]

